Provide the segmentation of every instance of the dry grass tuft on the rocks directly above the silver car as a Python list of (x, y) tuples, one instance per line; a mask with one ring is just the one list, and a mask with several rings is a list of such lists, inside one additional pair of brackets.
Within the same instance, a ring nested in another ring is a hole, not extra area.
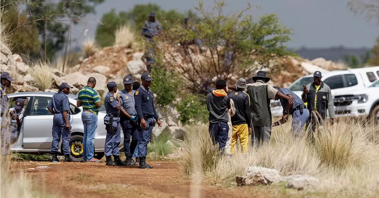
[(34, 77), (36, 87), (41, 91), (50, 89), (53, 84), (52, 67), (49, 62), (42, 60), (34, 62), (31, 76)]

